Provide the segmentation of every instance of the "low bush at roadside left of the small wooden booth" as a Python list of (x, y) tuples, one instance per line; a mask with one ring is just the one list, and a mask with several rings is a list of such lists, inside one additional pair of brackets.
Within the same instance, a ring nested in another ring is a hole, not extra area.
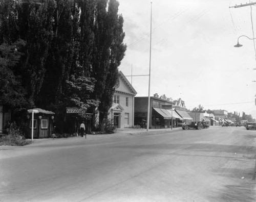
[(10, 124), (7, 131), (8, 134), (0, 138), (0, 145), (24, 146), (31, 143), (31, 141), (25, 140), (22, 131), (17, 127), (15, 122)]

